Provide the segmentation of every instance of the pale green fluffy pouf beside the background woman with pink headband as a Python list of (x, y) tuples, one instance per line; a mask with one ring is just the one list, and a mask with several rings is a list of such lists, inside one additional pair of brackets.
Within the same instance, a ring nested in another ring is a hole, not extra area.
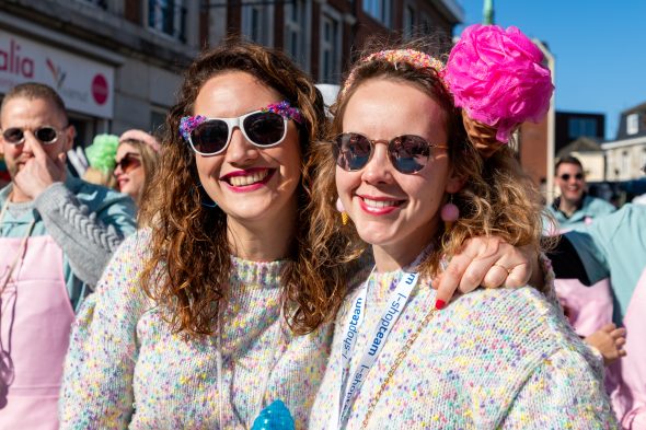
[(116, 189), (113, 172), (118, 144), (119, 137), (115, 135), (102, 133), (94, 137), (92, 144), (85, 149), (89, 166), (83, 173), (84, 181)]

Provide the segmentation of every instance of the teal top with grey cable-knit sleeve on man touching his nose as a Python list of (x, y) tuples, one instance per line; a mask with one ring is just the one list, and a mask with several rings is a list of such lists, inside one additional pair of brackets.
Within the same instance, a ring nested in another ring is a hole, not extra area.
[[(0, 190), (0, 207), (11, 189), (9, 184)], [(22, 237), (35, 219), (31, 236), (50, 235), (62, 249), (64, 277), (78, 309), (112, 253), (135, 232), (135, 213), (130, 197), (68, 174), (65, 184), (53, 184), (33, 201), (10, 202), (0, 221), (0, 236)]]

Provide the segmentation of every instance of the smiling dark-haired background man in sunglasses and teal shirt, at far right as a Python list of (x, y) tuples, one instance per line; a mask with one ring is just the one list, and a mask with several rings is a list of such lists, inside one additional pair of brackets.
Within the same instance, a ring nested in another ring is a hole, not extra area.
[(614, 206), (608, 201), (588, 196), (584, 166), (577, 158), (562, 158), (554, 171), (561, 196), (554, 199), (547, 210), (558, 222), (558, 230), (563, 232), (590, 224), (592, 219), (614, 212)]

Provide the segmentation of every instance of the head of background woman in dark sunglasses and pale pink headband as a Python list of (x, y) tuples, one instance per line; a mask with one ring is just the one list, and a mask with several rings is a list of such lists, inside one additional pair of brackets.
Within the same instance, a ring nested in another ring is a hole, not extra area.
[(118, 190), (132, 197), (138, 206), (154, 174), (160, 144), (142, 130), (128, 130), (119, 138), (114, 176)]

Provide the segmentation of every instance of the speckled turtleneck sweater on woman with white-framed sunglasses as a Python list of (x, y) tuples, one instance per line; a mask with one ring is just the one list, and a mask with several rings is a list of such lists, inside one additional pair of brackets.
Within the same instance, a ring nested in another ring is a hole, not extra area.
[[(328, 357), (331, 326), (293, 337), (280, 316), (285, 262), (232, 258), (221, 316), (222, 386), (217, 336), (173, 335), (139, 289), (150, 234), (128, 239), (73, 326), (60, 400), (64, 429), (250, 428), (282, 399), (304, 428)], [(266, 386), (266, 392), (263, 387)], [(219, 392), (221, 391), (221, 392)]]

